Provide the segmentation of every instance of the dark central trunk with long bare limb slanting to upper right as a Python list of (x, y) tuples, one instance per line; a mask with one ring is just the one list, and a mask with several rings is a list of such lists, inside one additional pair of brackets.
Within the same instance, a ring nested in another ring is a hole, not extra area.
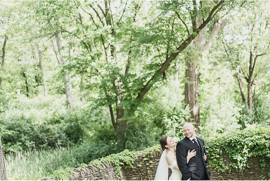
[[(106, 19), (107, 25), (112, 25), (111, 35), (115, 35), (116, 32), (113, 29), (113, 21), (112, 21), (112, 15), (111, 15), (110, 4), (109, 3), (110, 3), (110, 1), (105, 1), (105, 13), (103, 12), (103, 14), (104, 14), (104, 17)], [(211, 9), (211, 11), (209, 11), (209, 13), (207, 14), (208, 16), (203, 20), (203, 22), (201, 24), (198, 24), (199, 26), (193, 26), (194, 34), (193, 33), (189, 34), (188, 38), (186, 38), (186, 40), (183, 41), (180, 44), (180, 46), (178, 48), (176, 48), (176, 50), (172, 54), (170, 54), (170, 56), (166, 57), (165, 62), (163, 62), (161, 67), (158, 70), (156, 70), (154, 75), (151, 78), (149, 77), (150, 79), (148, 80), (148, 82), (144, 84), (144, 86), (141, 88), (141, 90), (139, 90), (139, 92), (137, 94), (137, 97), (136, 97), (136, 101), (134, 101), (134, 104), (131, 105), (132, 110), (134, 110), (134, 111), (136, 110), (136, 107), (139, 105), (140, 101), (142, 101), (142, 99), (147, 94), (147, 92), (150, 90), (152, 85), (154, 85), (154, 83), (157, 82), (158, 77), (161, 77), (162, 75), (163, 75), (163, 77), (165, 77), (164, 73), (168, 69), (168, 67), (170, 66), (170, 63), (178, 56), (178, 54), (180, 52), (182, 52), (184, 49), (186, 49), (186, 47), (191, 43), (191, 41), (197, 36), (197, 32), (202, 32), (202, 31), (204, 32), (204, 30), (202, 30), (202, 29), (205, 28), (207, 23), (209, 23), (209, 21), (212, 20), (213, 16), (221, 9), (220, 6), (221, 6), (222, 3), (224, 3), (224, 1), (219, 1)], [(196, 2), (193, 1), (193, 4), (196, 4)], [(95, 11), (95, 9), (93, 7), (92, 7), (92, 9)], [(194, 11), (196, 11), (196, 10), (194, 10)], [(104, 26), (104, 22), (100, 18), (100, 16), (98, 15), (98, 12), (97, 11), (95, 11), (95, 12), (96, 12), (97, 17), (99, 18), (101, 24), (103, 24), (103, 26)], [(193, 17), (196, 16), (196, 15), (197, 15), (197, 12), (194, 12), (193, 14), (191, 14), (192, 21), (194, 19)], [(135, 16), (136, 16), (136, 12), (135, 12)], [(135, 16), (134, 16), (134, 20), (135, 20)], [(196, 20), (196, 18), (195, 18), (195, 20)], [(132, 40), (132, 38), (133, 37), (131, 36), (131, 40)], [(105, 55), (106, 55), (106, 60), (108, 62), (107, 51), (106, 51), (106, 47), (104, 46), (104, 41), (103, 41), (103, 47), (104, 47), (104, 51), (105, 51)], [(117, 66), (116, 48), (113, 46), (113, 44), (110, 44), (109, 47), (110, 47), (110, 51), (111, 51), (111, 60), (114, 61), (115, 65)], [(129, 51), (129, 57), (131, 57), (130, 55), (131, 55), (131, 51)], [(130, 65), (129, 61), (130, 61), (130, 59), (128, 59), (126, 72), (128, 72), (128, 70), (129, 70), (129, 65)], [(196, 69), (194, 69), (194, 70), (196, 70)], [(111, 72), (109, 72), (109, 73), (111, 73)], [(198, 75), (198, 77), (199, 77), (199, 75)], [(114, 115), (113, 115), (112, 104), (109, 105), (109, 109), (110, 109), (110, 115), (111, 115), (112, 123), (113, 123), (114, 128), (116, 129), (118, 139), (119, 139), (119, 138), (121, 138), (119, 136), (119, 135), (121, 135), (120, 133), (123, 133), (126, 130), (126, 128), (129, 127), (130, 123), (129, 123), (129, 120), (124, 120), (123, 119), (124, 115), (125, 115), (125, 112), (124, 112), (125, 109), (124, 109), (123, 105), (121, 105), (121, 102), (123, 100), (122, 93), (123, 93), (123, 90), (124, 90), (123, 88), (124, 88), (125, 85), (124, 85), (124, 83), (123, 84), (118, 84), (118, 78), (119, 77), (115, 77), (115, 78), (116, 78), (116, 81), (113, 82), (113, 87), (116, 90), (115, 94), (117, 96), (117, 100), (116, 100), (116, 121), (115, 121)], [(121, 85), (121, 86), (119, 86), (119, 85)], [(104, 89), (105, 89), (106, 97), (108, 98), (110, 96), (108, 94), (108, 90), (107, 90), (106, 87)], [(197, 93), (198, 93), (198, 91), (197, 91)], [(124, 140), (122, 140), (122, 142), (123, 141)]]

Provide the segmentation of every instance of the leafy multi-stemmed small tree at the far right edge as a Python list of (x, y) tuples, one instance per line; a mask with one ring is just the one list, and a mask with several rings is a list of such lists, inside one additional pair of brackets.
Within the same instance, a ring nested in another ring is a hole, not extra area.
[[(232, 36), (233, 39), (227, 38), (223, 41), (226, 56), (230, 60), (232, 70), (235, 71), (234, 75), (239, 86), (242, 102), (251, 118), (251, 124), (253, 122), (254, 102), (270, 85), (260, 80), (262, 72), (269, 68), (269, 64), (265, 62), (265, 58), (268, 59), (267, 53), (270, 45), (269, 13), (265, 9), (267, 6), (268, 2), (256, 2), (253, 4), (253, 7), (257, 7), (256, 9), (250, 9), (249, 6), (243, 7), (243, 13), (247, 15), (247, 18), (241, 22), (240, 26), (239, 23), (232, 25), (233, 28), (231, 28), (235, 32), (235, 35)], [(249, 12), (253, 13), (250, 14)], [(237, 38), (238, 36), (245, 36), (246, 38), (242, 40)], [(247, 86), (245, 87), (245, 85)]]

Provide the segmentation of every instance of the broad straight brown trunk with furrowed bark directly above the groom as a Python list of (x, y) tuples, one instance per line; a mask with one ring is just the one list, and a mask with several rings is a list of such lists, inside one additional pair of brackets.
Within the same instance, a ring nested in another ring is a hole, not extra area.
[[(196, 22), (196, 25), (200, 26), (203, 23), (203, 20)], [(227, 19), (224, 20), (215, 20), (214, 25), (211, 29), (208, 42), (205, 44), (206, 29), (207, 25), (198, 33), (196, 38), (190, 43), (191, 46), (194, 46), (195, 50), (188, 52), (188, 59), (186, 59), (186, 84), (185, 84), (185, 104), (189, 105), (191, 119), (188, 121), (195, 122), (194, 127), (196, 128), (196, 133), (200, 133), (200, 110), (199, 110), (199, 60), (201, 59), (201, 53), (196, 51), (209, 51), (212, 44), (214, 43), (218, 32), (226, 25)], [(205, 45), (204, 45), (205, 44)]]

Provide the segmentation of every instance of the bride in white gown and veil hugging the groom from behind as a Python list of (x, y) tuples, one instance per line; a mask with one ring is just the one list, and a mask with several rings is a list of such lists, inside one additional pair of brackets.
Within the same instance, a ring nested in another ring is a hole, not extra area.
[[(174, 142), (173, 138), (169, 136), (163, 136), (160, 138), (160, 146), (163, 152), (160, 157), (160, 162), (157, 166), (154, 180), (168, 180), (168, 168), (172, 170), (172, 174), (169, 180), (182, 180), (182, 174), (179, 171), (176, 161), (175, 145), (176, 143)], [(195, 155), (195, 149), (191, 152), (188, 150), (187, 163)], [(204, 160), (206, 160), (206, 155), (204, 156)]]

